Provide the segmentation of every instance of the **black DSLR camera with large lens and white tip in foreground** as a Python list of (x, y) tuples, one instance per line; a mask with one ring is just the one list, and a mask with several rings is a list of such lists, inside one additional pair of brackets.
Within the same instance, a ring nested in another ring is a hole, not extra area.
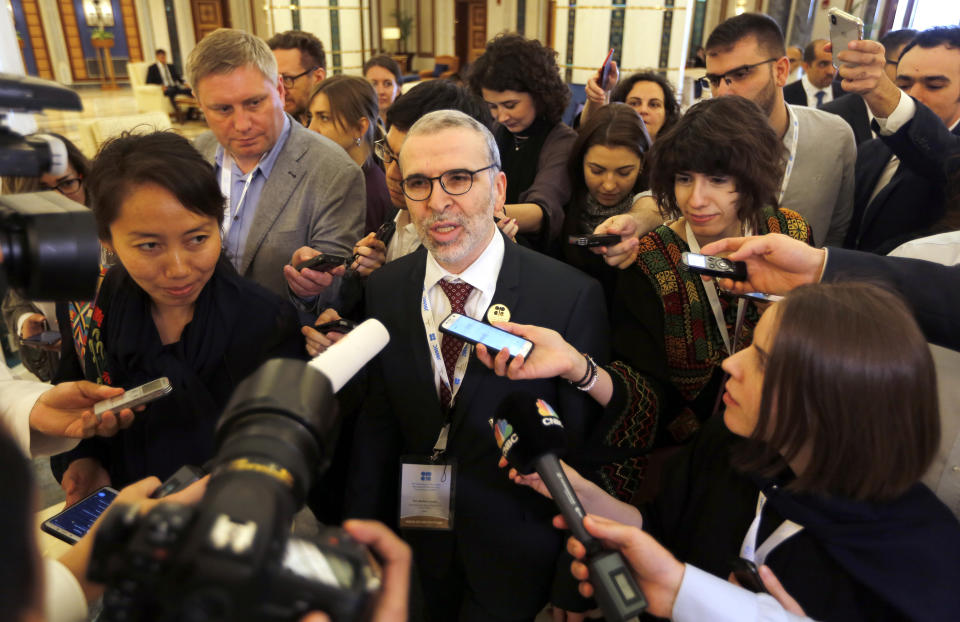
[(197, 507), (161, 503), (143, 517), (111, 507), (88, 570), (107, 585), (100, 619), (369, 617), (380, 576), (366, 549), (340, 529), (304, 540), (290, 526), (333, 453), (334, 393), (388, 339), (367, 320), (309, 364), (274, 359), (240, 383), (217, 424)]

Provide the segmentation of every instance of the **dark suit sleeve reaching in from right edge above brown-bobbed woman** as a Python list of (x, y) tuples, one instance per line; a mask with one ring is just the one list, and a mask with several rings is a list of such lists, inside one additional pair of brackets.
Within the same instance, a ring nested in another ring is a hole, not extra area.
[(882, 280), (913, 308), (920, 329), (931, 343), (960, 350), (960, 264), (883, 257), (831, 248), (823, 281)]

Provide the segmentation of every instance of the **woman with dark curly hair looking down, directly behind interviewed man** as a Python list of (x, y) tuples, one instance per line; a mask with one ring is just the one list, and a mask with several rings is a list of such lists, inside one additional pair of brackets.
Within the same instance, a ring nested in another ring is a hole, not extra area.
[(549, 250), (570, 199), (566, 162), (576, 133), (560, 117), (570, 91), (557, 53), (539, 41), (502, 34), (487, 43), (470, 73), (470, 89), (490, 107), (507, 175), (503, 212), (531, 246)]

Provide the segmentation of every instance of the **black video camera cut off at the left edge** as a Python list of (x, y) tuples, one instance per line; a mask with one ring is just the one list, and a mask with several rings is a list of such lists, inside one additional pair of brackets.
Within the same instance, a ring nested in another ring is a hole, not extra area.
[[(55, 82), (0, 74), (0, 175), (63, 175), (67, 150), (53, 136), (23, 137), (9, 112), (81, 110), (80, 97)], [(0, 196), (0, 253), (7, 284), (28, 300), (89, 300), (100, 266), (93, 214), (59, 192)], [(0, 284), (0, 295), (6, 289)]]

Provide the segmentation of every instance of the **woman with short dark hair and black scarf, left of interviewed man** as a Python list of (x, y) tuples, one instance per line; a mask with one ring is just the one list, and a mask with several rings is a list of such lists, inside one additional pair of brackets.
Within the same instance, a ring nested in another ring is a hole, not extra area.
[(51, 460), (67, 505), (101, 486), (202, 465), (237, 384), (269, 358), (304, 356), (293, 306), (241, 278), (223, 255), (223, 196), (186, 139), (155, 132), (109, 141), (87, 190), (101, 244), (118, 264), (94, 302), (86, 379), (131, 389), (167, 377), (173, 390), (115, 437)]

